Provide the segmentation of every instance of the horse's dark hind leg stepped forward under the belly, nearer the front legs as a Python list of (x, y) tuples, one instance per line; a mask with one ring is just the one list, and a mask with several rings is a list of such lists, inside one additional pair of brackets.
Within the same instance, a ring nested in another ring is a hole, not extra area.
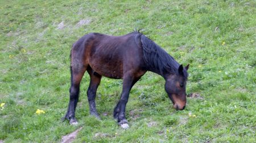
[(92, 68), (88, 67), (87, 69), (89, 75), (90, 75), (90, 85), (87, 90), (87, 97), (90, 107), (90, 115), (96, 116), (96, 118), (100, 119), (100, 116), (97, 113), (96, 110), (96, 104), (95, 104), (95, 97), (98, 85), (100, 85), (101, 82), (101, 75), (99, 75), (96, 72), (93, 72)]

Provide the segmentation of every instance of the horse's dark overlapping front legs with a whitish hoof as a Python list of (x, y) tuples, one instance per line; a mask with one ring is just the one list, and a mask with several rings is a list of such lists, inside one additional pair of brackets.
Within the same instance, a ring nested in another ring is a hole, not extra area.
[(139, 78), (135, 78), (133, 76), (126, 76), (123, 78), (123, 90), (121, 98), (114, 109), (114, 118), (117, 118), (118, 124), (124, 129), (129, 128), (128, 122), (125, 119), (126, 103), (128, 102), (131, 88), (138, 80)]

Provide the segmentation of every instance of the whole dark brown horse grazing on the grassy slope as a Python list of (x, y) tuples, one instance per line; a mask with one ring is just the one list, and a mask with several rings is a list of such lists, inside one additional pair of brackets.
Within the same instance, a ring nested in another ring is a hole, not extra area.
[(70, 124), (77, 124), (75, 109), (85, 71), (90, 75), (87, 90), (90, 114), (97, 118), (100, 116), (96, 111), (95, 97), (101, 76), (123, 79), (121, 98), (114, 109), (114, 118), (122, 128), (129, 128), (125, 107), (130, 90), (147, 71), (158, 73), (166, 80), (165, 89), (174, 108), (183, 110), (186, 105), (188, 67), (189, 64), (183, 68), (182, 64), (139, 32), (124, 36), (86, 34), (73, 44), (71, 50), (70, 100), (64, 119), (68, 119)]

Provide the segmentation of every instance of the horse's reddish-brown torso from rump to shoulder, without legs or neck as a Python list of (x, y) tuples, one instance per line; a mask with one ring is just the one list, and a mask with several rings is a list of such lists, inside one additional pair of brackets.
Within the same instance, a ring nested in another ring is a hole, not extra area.
[(121, 79), (123, 74), (141, 67), (142, 47), (137, 34), (108, 36), (89, 33), (81, 37), (73, 51), (78, 52), (84, 64), (94, 72), (114, 79)]

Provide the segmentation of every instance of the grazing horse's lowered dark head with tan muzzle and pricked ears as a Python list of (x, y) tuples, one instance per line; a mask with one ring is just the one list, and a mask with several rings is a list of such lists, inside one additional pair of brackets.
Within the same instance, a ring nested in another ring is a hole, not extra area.
[(188, 67), (189, 64), (185, 68), (183, 68), (181, 64), (178, 68), (177, 74), (169, 75), (166, 78), (165, 89), (172, 103), (174, 103), (174, 108), (176, 110), (185, 109), (185, 105), (187, 102), (186, 84)]

